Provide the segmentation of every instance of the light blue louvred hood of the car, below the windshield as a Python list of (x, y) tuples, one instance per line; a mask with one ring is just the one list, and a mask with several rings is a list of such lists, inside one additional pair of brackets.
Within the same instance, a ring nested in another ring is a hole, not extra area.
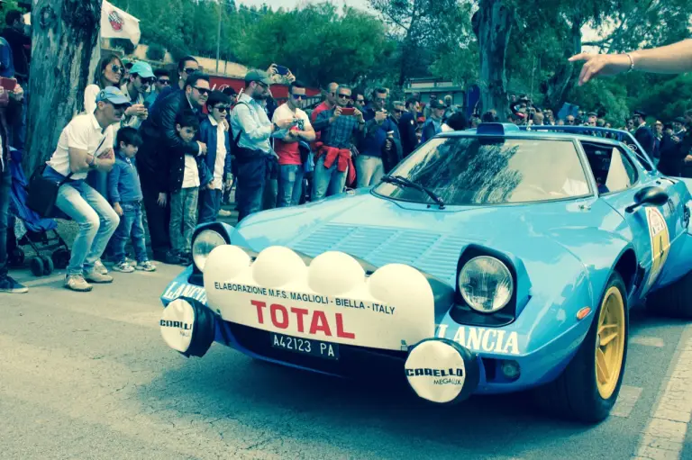
[[(619, 239), (623, 220), (602, 200), (496, 206), (437, 206), (361, 190), (250, 216), (232, 237), (255, 251), (287, 246), (311, 257), (346, 252), (383, 266), (414, 266), (455, 284), (460, 252), (477, 244), (544, 269), (577, 258), (581, 242)], [(618, 246), (622, 246), (619, 244)]]

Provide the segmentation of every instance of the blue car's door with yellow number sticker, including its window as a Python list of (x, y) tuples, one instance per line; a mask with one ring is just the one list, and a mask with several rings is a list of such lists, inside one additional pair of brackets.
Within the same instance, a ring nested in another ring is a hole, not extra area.
[[(665, 266), (671, 241), (683, 231), (678, 210), (681, 196), (672, 181), (645, 171), (627, 149), (597, 141), (584, 141), (582, 147), (594, 171), (599, 196), (623, 216), (631, 231), (637, 261), (645, 273), (641, 286), (649, 290)], [(635, 195), (653, 186), (663, 189), (668, 201), (633, 208)]]

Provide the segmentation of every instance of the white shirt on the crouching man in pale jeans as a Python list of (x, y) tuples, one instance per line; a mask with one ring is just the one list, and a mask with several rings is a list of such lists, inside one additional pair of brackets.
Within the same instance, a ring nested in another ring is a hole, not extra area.
[[(96, 121), (94, 113), (84, 113), (77, 115), (62, 130), (58, 147), (48, 160), (48, 166), (58, 171), (63, 176), (68, 176), (69, 169), (69, 148), (85, 150), (91, 155), (98, 157), (107, 149), (113, 149), (113, 130), (106, 127), (104, 130)], [(101, 141), (104, 141), (103, 143)], [(101, 147), (99, 147), (99, 144)], [(96, 151), (96, 148), (98, 150)], [(72, 179), (84, 179), (87, 171), (75, 173)]]

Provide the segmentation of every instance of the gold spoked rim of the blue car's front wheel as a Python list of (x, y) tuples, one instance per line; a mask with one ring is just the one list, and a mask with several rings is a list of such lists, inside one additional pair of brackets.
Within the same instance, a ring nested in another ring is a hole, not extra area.
[(625, 339), (623, 294), (611, 286), (601, 305), (596, 335), (596, 386), (605, 400), (615, 392), (623, 370)]

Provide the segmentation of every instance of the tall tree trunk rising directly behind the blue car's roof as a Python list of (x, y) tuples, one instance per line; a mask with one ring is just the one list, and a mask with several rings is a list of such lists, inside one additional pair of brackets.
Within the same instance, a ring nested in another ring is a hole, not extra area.
[(509, 108), (505, 59), (514, 12), (505, 0), (481, 0), (479, 6), (480, 103), (484, 113), (495, 109), (504, 122)]

